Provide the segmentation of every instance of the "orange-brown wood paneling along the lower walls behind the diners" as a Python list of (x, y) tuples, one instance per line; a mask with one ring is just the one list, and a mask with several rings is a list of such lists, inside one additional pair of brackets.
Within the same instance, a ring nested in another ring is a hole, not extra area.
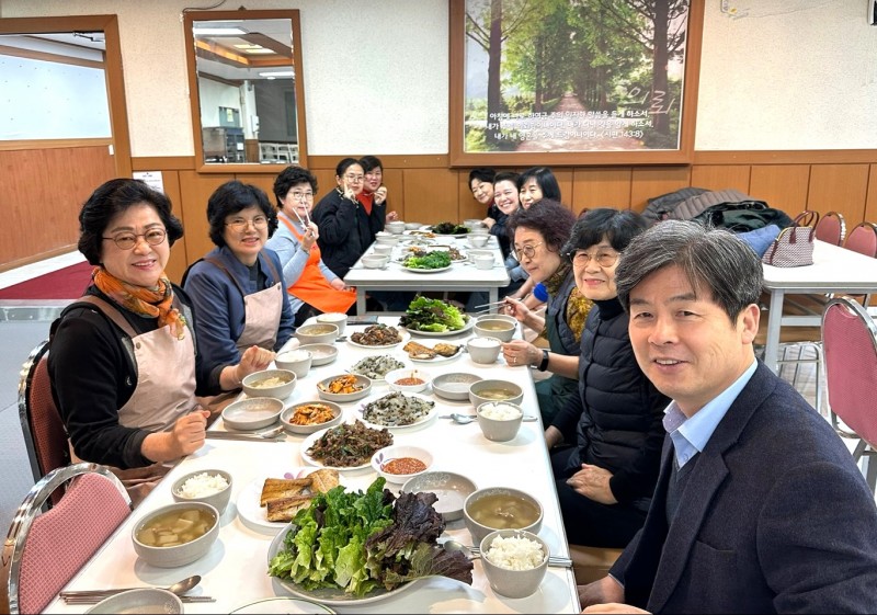
[[(3, 158), (4, 155), (14, 157)], [(57, 241), (53, 234), (62, 234), (65, 246), (75, 246), (79, 204), (103, 181), (98, 178), (106, 173), (107, 164), (112, 173), (112, 160), (101, 160), (92, 151), (93, 158), (86, 164), (86, 152), (78, 151), (76, 156), (67, 153), (70, 176), (41, 178), (39, 169), (45, 163), (42, 156), (53, 155), (48, 150), (38, 155), (0, 151), (0, 168), (4, 170), (0, 185), (11, 186), (0, 194), (8, 203), (11, 203), (10, 190), (22, 195), (16, 197), (14, 207), (3, 207), (4, 212), (14, 212), (11, 215), (15, 228), (23, 229), (15, 234), (20, 254), (38, 253), (32, 248), (48, 237)], [(341, 158), (309, 157), (309, 168), (319, 183), (318, 198), (335, 185), (334, 168)], [(390, 208), (399, 212), (402, 219), (434, 224), (483, 216), (483, 207), (469, 192), (468, 168), (451, 168), (446, 156), (381, 156), (380, 159)], [(185, 237), (173, 247), (168, 265), (168, 274), (176, 282), (190, 263), (213, 249), (206, 210), (207, 200), (217, 186), (238, 179), (260, 186), (274, 200), (273, 174), (198, 173), (194, 157), (140, 158), (134, 159), (133, 164), (137, 171), (162, 173), (164, 190), (185, 226)], [(563, 202), (576, 213), (601, 206), (641, 212), (650, 197), (697, 186), (733, 187), (790, 215), (805, 208), (840, 212), (847, 228), (864, 219), (877, 220), (877, 150), (701, 152), (695, 155), (693, 164), (684, 167), (562, 167), (555, 169), (555, 174)], [(52, 206), (59, 190), (78, 195), (64, 212), (57, 205)], [(50, 223), (46, 224), (46, 219)]]

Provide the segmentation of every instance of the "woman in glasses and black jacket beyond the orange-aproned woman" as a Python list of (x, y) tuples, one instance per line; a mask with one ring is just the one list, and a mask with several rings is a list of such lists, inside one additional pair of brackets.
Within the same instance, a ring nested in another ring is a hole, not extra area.
[[(317, 243), (322, 260), (335, 275), (344, 277), (384, 226), (383, 217), (379, 228), (372, 221), (357, 198), (365, 182), (365, 171), (358, 160), (341, 160), (335, 167), (335, 182), (338, 185), (314, 207), (314, 221), (320, 229)], [(376, 210), (373, 208), (373, 213)]]

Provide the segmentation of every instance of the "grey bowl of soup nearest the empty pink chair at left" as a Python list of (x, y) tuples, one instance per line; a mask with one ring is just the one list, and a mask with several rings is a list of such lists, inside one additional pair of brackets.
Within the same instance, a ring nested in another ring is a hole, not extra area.
[(204, 557), (219, 536), (219, 511), (206, 502), (174, 502), (146, 513), (132, 528), (135, 553), (157, 568)]

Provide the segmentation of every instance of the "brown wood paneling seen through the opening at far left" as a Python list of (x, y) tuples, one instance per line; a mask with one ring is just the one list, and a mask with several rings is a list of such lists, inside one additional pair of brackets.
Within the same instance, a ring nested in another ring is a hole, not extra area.
[(0, 271), (76, 250), (79, 210), (115, 176), (110, 139), (0, 148)]

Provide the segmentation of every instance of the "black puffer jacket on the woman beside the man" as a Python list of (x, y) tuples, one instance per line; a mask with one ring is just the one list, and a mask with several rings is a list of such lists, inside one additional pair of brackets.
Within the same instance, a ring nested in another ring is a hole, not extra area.
[(626, 503), (654, 491), (670, 399), (639, 368), (618, 299), (594, 301), (594, 307), (582, 331), (579, 395), (551, 424), (563, 434), (577, 431), (578, 451), (566, 476), (581, 464), (605, 468), (613, 474), (613, 496)]

